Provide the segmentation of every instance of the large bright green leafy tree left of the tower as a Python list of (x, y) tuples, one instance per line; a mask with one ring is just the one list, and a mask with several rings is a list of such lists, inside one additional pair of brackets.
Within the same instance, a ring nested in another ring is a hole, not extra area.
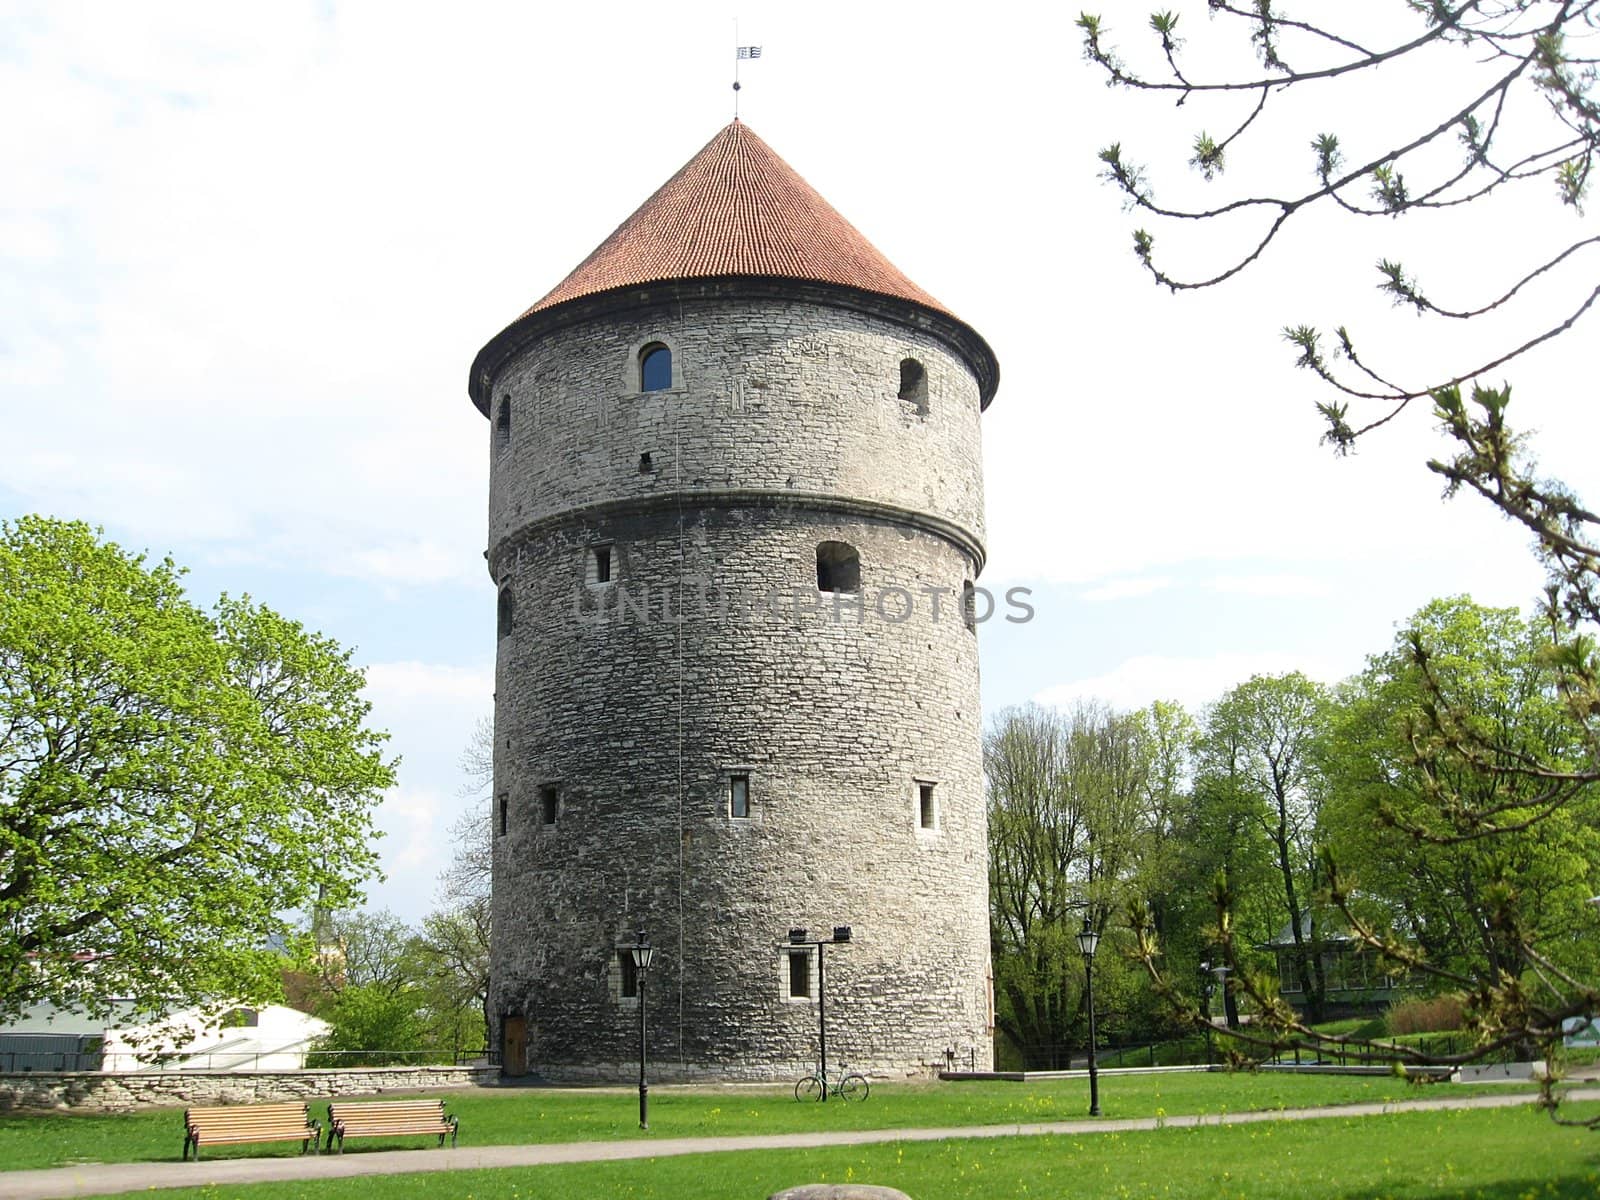
[(277, 995), (394, 782), (349, 651), (82, 523), (0, 522), (0, 1018)]

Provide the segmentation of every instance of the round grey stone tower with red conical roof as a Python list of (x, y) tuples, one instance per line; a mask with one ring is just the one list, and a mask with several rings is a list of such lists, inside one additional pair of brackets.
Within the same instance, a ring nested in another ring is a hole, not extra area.
[(978, 638), (994, 352), (746, 125), (496, 334), (491, 1010), (506, 1070), (989, 1051)]

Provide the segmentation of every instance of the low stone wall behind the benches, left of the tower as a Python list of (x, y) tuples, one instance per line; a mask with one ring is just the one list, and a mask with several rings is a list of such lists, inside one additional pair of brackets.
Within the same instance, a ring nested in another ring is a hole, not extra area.
[(266, 1104), (270, 1101), (371, 1096), (382, 1091), (437, 1091), (483, 1086), (499, 1067), (350, 1067), (346, 1070), (30, 1070), (0, 1075), (0, 1112), (10, 1109), (83, 1109), (130, 1112), (190, 1104)]

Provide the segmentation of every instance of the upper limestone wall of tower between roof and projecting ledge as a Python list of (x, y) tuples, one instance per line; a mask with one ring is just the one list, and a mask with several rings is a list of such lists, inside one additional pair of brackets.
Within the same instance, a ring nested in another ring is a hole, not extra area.
[[(651, 342), (672, 349), (675, 386), (640, 394)], [(926, 371), (923, 400), (899, 398), (906, 358)], [(978, 382), (923, 330), (819, 304), (685, 301), (549, 333), (491, 395), (490, 547), (552, 514), (677, 488), (872, 499), (982, 538)]]

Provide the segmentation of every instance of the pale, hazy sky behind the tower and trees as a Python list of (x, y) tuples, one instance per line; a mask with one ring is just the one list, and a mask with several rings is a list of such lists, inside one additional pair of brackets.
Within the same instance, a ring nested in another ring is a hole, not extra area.
[[(1248, 64), (1206, 45), (1203, 3), (1178, 8), (1198, 64)], [(1163, 200), (1298, 189), (1312, 134), (1338, 128), (1355, 160), (1470, 67), (1274, 104), (1205, 184), (1187, 142), (1227, 114), (1107, 90), (1075, 11), (768, 5), (736, 37), (701, 3), (0, 0), (0, 517), (88, 520), (187, 565), (202, 603), (248, 592), (352, 646), (402, 757), (370, 899), (418, 920), (493, 691), (467, 366), (730, 120), (744, 43), (763, 53), (741, 118), (1000, 358), (981, 582), (1030, 587), (1037, 618), (981, 629), (989, 715), (1336, 682), (1432, 597), (1530, 605), (1525, 539), (1424, 469), (1445, 448), (1427, 413), (1334, 458), (1328, 394), (1280, 331), (1349, 323), (1422, 381), (1592, 278), (1442, 333), (1376, 294), (1378, 258), (1466, 302), (1595, 221), (1542, 187), (1424, 219), (1310, 214), (1227, 285), (1160, 290), (1102, 146)], [(1130, 58), (1142, 13), (1104, 5)], [(1210, 274), (1245, 237), (1189, 226), (1157, 250)], [(1594, 318), (1507, 373), (1542, 467), (1590, 498), (1592, 339)]]

